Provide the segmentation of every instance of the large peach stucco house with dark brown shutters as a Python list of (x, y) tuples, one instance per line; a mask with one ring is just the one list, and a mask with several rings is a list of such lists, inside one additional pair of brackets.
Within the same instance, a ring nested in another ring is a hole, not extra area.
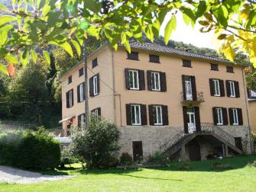
[[(200, 160), (251, 152), (243, 66), (225, 59), (131, 42), (88, 57), (89, 110), (122, 133), (122, 152)], [(84, 69), (63, 74), (63, 136), (84, 120)]]

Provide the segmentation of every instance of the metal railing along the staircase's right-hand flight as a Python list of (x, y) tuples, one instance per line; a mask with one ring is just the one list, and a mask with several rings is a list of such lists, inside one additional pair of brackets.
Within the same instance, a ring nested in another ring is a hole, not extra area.
[(230, 135), (225, 130), (222, 130), (222, 128), (220, 128), (219, 126), (215, 126), (212, 123), (201, 123), (201, 130), (213, 132), (235, 146), (234, 136)]

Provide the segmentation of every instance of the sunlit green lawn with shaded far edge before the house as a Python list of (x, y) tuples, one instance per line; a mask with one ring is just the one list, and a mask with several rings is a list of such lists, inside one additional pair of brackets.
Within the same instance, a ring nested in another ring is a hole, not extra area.
[[(76, 178), (40, 184), (0, 184), (0, 191), (256, 191), (256, 168), (248, 163), (256, 155), (205, 162), (190, 162), (189, 171), (181, 163), (169, 168), (142, 168), (103, 171), (57, 171), (50, 174), (78, 174)], [(216, 170), (212, 163), (232, 165)], [(47, 173), (47, 172), (46, 172)], [(49, 172), (47, 173), (49, 174)]]

